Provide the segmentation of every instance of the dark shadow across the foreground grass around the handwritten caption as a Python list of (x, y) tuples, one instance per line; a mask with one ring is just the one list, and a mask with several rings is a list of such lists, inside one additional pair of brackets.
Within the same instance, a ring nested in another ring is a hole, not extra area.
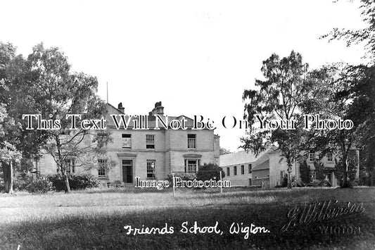
[[(372, 249), (375, 244), (375, 220), (365, 214), (343, 216), (280, 229), (288, 222), (291, 206), (257, 205), (230, 208), (162, 208), (127, 214), (93, 215), (87, 218), (71, 217), (66, 220), (50, 219), (13, 223), (0, 227), (0, 248), (17, 249)], [(214, 226), (216, 221), (222, 235), (184, 234), (182, 223), (188, 227)], [(173, 234), (127, 235), (125, 225), (132, 227), (159, 227), (167, 223), (174, 227)], [(232, 223), (265, 227), (269, 233), (230, 234)], [(360, 232), (337, 234), (322, 232), (320, 227), (360, 227)]]

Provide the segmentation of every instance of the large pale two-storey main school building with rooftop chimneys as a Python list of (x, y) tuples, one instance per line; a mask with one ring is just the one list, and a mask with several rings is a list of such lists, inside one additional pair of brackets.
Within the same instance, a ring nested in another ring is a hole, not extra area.
[[(155, 115), (165, 119), (164, 107), (160, 102), (155, 104), (147, 114), (148, 130), (136, 130), (133, 123), (129, 123), (126, 130), (117, 130), (113, 118), (109, 115), (125, 114), (125, 108), (119, 104), (117, 108), (107, 104), (107, 130), (113, 142), (108, 143), (106, 154), (114, 163), (107, 168), (107, 159), (98, 160), (97, 167), (85, 170), (74, 158), (68, 159), (68, 173), (77, 175), (86, 173), (98, 177), (103, 183), (120, 182), (134, 185), (135, 177), (140, 180), (165, 180), (172, 172), (195, 173), (203, 163), (220, 163), (220, 137), (214, 130), (192, 130), (193, 120), (184, 115), (169, 116), (170, 120), (186, 120), (186, 130), (152, 129), (155, 127)], [(87, 142), (83, 142), (87, 143)], [(58, 173), (52, 156), (44, 155), (35, 164), (40, 175), (54, 175)]]

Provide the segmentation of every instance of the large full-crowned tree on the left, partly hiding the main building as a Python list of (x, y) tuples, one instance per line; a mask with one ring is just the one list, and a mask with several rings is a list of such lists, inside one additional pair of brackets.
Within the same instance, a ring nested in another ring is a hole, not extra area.
[[(101, 119), (106, 115), (106, 104), (96, 95), (96, 77), (71, 73), (63, 52), (58, 48), (45, 49), (43, 44), (34, 46), (27, 60), (15, 58), (8, 72), (11, 94), (15, 97), (10, 110), (22, 121), (23, 135), (30, 137), (27, 141), (42, 145), (32, 151), (30, 144), (26, 144), (24, 152), (37, 156), (44, 149), (50, 154), (65, 179), (65, 192), (69, 192), (68, 175), (72, 162), (76, 166), (94, 168), (98, 158), (107, 160), (104, 148), (110, 141), (108, 132), (91, 130), (93, 124), (87, 130), (79, 123), (81, 119)], [(22, 120), (22, 114), (40, 114), (42, 119), (61, 120), (61, 126), (55, 130), (51, 127), (37, 130), (39, 118), (32, 117), (34, 130), (25, 130), (29, 120)], [(67, 117), (72, 114), (82, 116), (73, 123), (72, 118)], [(76, 130), (70, 130), (72, 124)], [(105, 162), (110, 165), (109, 161)]]

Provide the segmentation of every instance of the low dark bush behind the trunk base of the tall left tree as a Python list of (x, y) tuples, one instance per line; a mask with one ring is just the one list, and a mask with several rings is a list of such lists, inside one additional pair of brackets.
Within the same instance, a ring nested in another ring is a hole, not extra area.
[[(56, 191), (65, 190), (65, 180), (61, 175), (50, 175), (49, 180), (53, 183)], [(69, 186), (72, 190), (87, 189), (99, 187), (100, 182), (92, 175), (69, 175)]]

